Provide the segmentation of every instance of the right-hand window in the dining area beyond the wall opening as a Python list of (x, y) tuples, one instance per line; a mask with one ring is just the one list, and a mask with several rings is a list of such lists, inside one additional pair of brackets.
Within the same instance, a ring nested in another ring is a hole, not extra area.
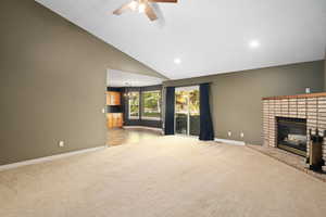
[(161, 91), (143, 91), (142, 97), (142, 119), (161, 119)]

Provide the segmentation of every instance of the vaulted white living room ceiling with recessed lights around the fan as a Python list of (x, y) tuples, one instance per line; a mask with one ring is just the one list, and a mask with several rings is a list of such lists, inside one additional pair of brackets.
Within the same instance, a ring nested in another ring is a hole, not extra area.
[[(168, 78), (322, 60), (326, 0), (179, 0), (164, 20), (112, 11), (129, 0), (37, 0)], [(252, 40), (260, 47), (249, 48)], [(175, 64), (174, 59), (180, 59)]]

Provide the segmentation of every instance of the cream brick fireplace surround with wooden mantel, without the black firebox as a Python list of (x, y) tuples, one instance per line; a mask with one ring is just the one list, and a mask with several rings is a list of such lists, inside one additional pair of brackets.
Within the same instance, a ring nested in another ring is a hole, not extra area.
[[(262, 101), (264, 145), (277, 148), (277, 117), (305, 118), (306, 135), (310, 129), (313, 132), (318, 129), (321, 135), (326, 130), (326, 92), (267, 97)], [(306, 154), (309, 155), (309, 145)], [(323, 158), (326, 162), (326, 142)]]

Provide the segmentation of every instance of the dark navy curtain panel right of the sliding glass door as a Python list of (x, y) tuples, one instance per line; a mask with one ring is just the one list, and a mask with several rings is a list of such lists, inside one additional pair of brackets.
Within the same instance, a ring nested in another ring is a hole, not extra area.
[(210, 84), (200, 85), (200, 133), (203, 141), (214, 140), (214, 129), (210, 108)]

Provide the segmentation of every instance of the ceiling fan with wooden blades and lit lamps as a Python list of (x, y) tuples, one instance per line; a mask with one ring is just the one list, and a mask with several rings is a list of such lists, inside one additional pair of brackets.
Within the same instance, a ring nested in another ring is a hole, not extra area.
[(123, 4), (121, 8), (116, 9), (113, 14), (121, 15), (126, 11), (139, 11), (139, 13), (146, 13), (150, 21), (158, 20), (153, 8), (150, 3), (177, 3), (177, 0), (133, 0), (129, 3)]

